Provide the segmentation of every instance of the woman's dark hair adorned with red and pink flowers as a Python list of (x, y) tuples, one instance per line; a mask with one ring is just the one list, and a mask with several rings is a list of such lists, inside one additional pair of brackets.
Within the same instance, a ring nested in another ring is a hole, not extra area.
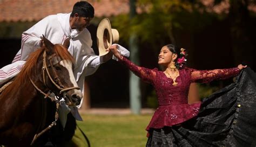
[[(172, 44), (166, 45), (166, 47), (174, 54), (177, 54), (177, 58), (174, 60), (176, 62), (175, 66), (181, 69), (186, 64), (186, 52), (184, 48), (178, 48)], [(181, 51), (182, 49), (182, 51)]]

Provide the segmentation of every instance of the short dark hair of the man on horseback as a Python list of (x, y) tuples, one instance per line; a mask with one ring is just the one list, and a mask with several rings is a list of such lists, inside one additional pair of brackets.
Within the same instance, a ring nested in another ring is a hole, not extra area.
[(80, 1), (75, 3), (73, 6), (73, 10), (71, 13), (71, 17), (74, 17), (75, 13), (78, 13), (79, 17), (94, 17), (94, 8), (93, 6), (86, 2), (86, 1)]

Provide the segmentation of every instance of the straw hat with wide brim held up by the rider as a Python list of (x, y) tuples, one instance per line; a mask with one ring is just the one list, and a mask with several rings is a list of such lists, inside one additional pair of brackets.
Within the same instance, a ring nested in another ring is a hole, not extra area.
[(118, 43), (119, 33), (116, 29), (111, 29), (111, 24), (108, 18), (100, 21), (97, 29), (97, 44), (99, 55), (107, 54), (106, 49), (113, 43)]

